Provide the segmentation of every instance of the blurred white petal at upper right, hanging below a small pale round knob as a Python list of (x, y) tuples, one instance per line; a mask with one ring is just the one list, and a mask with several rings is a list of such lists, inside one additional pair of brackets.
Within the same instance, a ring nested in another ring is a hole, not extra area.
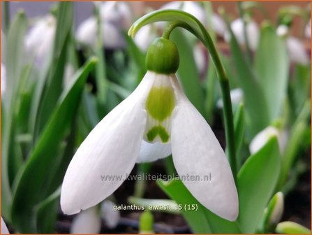
[(291, 62), (297, 64), (309, 64), (309, 57), (306, 55), (304, 45), (299, 39), (290, 36), (287, 38), (286, 43)]

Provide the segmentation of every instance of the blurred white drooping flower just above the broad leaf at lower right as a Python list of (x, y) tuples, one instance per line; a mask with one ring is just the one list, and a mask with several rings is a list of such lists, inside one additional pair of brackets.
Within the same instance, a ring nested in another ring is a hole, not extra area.
[(267, 143), (267, 141), (269, 141), (269, 138), (271, 138), (272, 136), (276, 136), (278, 140), (279, 150), (281, 151), (281, 153), (283, 153), (288, 140), (287, 132), (281, 131), (276, 127), (269, 126), (260, 131), (258, 134), (256, 134), (253, 140), (251, 141), (249, 145), (249, 150), (251, 154), (258, 152)]

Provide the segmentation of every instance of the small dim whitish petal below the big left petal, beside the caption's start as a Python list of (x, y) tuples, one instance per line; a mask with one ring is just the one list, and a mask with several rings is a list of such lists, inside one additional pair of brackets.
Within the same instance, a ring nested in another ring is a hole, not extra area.
[(120, 220), (120, 213), (119, 211), (114, 210), (114, 206), (116, 205), (108, 200), (103, 201), (101, 204), (101, 217), (110, 229), (114, 229)]

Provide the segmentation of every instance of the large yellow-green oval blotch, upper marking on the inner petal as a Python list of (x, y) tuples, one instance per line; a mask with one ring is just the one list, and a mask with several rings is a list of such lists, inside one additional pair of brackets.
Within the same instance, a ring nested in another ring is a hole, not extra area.
[(162, 122), (171, 115), (174, 102), (174, 92), (171, 87), (152, 87), (145, 107), (151, 117)]

